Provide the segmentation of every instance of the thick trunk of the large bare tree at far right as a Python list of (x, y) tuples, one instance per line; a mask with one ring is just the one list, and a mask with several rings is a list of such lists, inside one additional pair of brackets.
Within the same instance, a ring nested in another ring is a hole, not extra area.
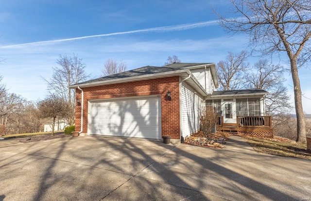
[(298, 76), (297, 60), (291, 59), (291, 71), (294, 83), (294, 100), (297, 118), (297, 142), (306, 143), (306, 123), (301, 101), (301, 88)]

